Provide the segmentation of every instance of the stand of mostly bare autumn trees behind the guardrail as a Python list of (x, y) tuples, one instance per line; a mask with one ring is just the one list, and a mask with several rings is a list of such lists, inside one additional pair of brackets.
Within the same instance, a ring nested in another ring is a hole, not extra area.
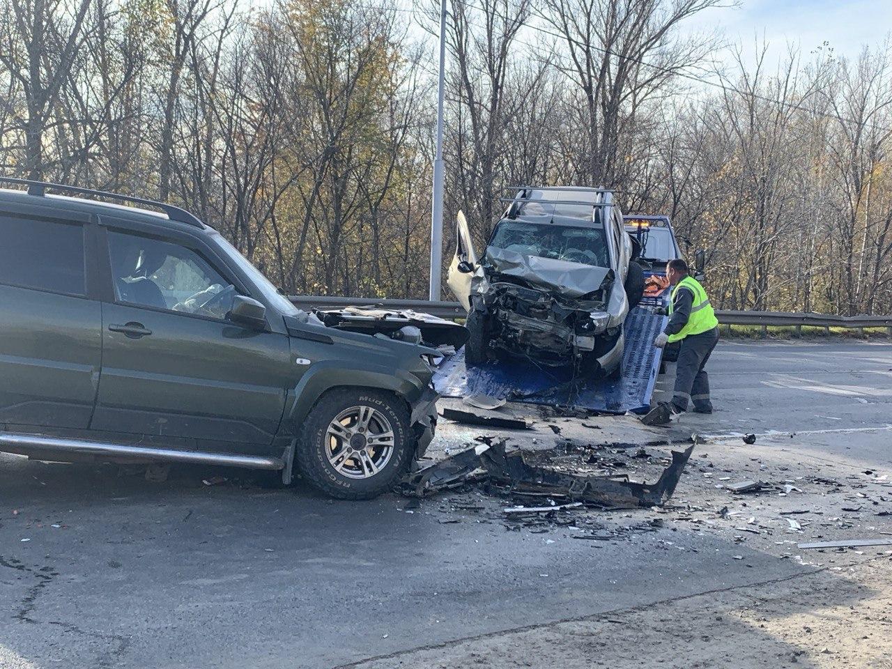
[[(450, 0), (446, 210), (483, 242), (505, 186), (614, 186), (706, 249), (717, 305), (892, 311), (888, 43), (697, 86), (716, 42), (680, 26), (719, 1)], [(0, 170), (181, 202), (288, 291), (420, 296), (434, 41), (408, 15), (0, 0)]]

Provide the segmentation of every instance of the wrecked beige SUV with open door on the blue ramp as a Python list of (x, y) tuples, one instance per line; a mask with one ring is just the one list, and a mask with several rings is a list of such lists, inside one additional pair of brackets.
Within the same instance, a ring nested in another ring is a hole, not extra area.
[(503, 201), (508, 209), (479, 260), (458, 213), (449, 285), (467, 309), (467, 364), (508, 356), (618, 375), (624, 321), (644, 293), (644, 273), (613, 194), (522, 186)]

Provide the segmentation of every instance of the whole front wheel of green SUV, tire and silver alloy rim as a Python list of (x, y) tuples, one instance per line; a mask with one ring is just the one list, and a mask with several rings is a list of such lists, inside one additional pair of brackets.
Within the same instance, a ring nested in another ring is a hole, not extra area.
[(313, 409), (295, 452), (301, 474), (319, 491), (365, 500), (390, 490), (414, 454), (405, 402), (386, 392), (343, 388)]

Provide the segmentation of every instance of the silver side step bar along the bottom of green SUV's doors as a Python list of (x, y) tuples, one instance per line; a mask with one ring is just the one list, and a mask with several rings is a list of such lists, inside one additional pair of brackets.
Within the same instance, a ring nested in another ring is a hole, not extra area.
[(167, 462), (195, 462), (203, 465), (225, 465), (228, 467), (249, 467), (252, 469), (283, 469), (282, 458), (263, 458), (255, 455), (232, 455), (212, 453), (202, 450), (160, 449), (153, 446), (127, 446), (120, 443), (88, 442), (81, 439), (62, 439), (40, 434), (19, 434), (0, 432), (0, 450), (39, 457), (41, 451), (47, 454), (77, 453), (97, 458), (136, 458), (163, 460)]

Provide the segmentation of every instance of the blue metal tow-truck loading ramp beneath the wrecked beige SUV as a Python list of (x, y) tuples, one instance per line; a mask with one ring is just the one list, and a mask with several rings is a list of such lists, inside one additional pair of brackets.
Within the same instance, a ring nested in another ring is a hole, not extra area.
[(617, 380), (573, 376), (572, 368), (549, 368), (521, 360), (502, 360), (467, 368), (465, 351), (442, 360), (434, 386), (444, 397), (483, 393), (509, 401), (570, 406), (604, 413), (643, 411), (657, 383), (661, 352), (654, 339), (667, 318), (653, 308), (662, 298), (645, 298), (625, 319), (622, 375)]

